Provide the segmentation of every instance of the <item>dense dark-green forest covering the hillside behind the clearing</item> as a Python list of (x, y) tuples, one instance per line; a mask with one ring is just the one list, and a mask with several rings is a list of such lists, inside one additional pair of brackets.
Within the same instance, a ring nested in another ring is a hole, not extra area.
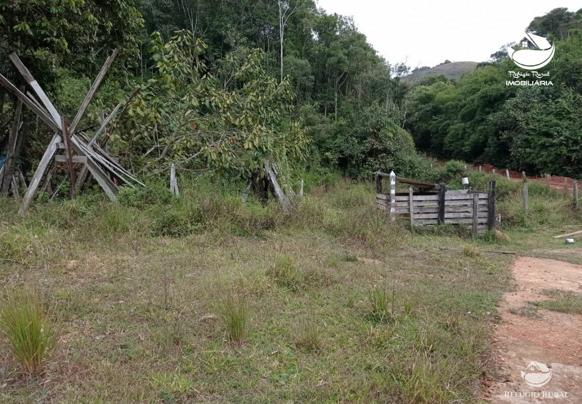
[[(519, 88), (505, 84), (517, 67), (503, 52), (460, 80), (405, 84), (407, 66), (378, 56), (350, 17), (313, 0), (14, 1), (0, 11), (0, 73), (24, 84), (8, 59), (16, 52), (68, 118), (119, 49), (80, 127), (96, 129), (98, 112), (139, 86), (109, 128), (109, 148), (143, 175), (176, 164), (248, 178), (268, 157), (290, 179), (395, 167), (432, 178), (416, 149), (582, 173), (582, 10), (532, 21), (528, 30), (556, 42), (553, 86)], [(0, 150), (15, 106), (0, 88)], [(24, 122), (17, 164), (31, 173), (52, 134), (30, 111)]]

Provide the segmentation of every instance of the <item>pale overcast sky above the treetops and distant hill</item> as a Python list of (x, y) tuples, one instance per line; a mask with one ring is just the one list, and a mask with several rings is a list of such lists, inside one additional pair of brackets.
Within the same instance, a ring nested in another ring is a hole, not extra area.
[(471, 60), (524, 36), (530, 21), (558, 7), (582, 8), (580, 0), (319, 0), (328, 13), (353, 16), (359, 31), (391, 64), (435, 66)]

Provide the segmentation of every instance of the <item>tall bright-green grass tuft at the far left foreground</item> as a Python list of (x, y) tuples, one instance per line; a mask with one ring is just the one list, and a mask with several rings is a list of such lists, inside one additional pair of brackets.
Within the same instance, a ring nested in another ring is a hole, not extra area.
[(51, 322), (34, 293), (14, 290), (0, 302), (0, 330), (29, 374), (38, 374), (55, 346)]

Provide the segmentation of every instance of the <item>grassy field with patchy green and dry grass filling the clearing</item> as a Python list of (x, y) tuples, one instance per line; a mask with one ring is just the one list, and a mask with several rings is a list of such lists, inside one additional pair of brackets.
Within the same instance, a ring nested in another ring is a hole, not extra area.
[(237, 188), (182, 192), (23, 219), (3, 202), (2, 293), (36, 291), (57, 342), (27, 376), (0, 341), (0, 402), (474, 402), (511, 288), (512, 257), (481, 250), (559, 254), (549, 235), (574, 219), (515, 219), (496, 241), (411, 232), (371, 184), (314, 186), (290, 215)]

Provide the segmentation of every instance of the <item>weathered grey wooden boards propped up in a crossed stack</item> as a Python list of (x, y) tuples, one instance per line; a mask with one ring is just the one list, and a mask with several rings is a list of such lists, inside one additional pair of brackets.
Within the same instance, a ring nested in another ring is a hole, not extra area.
[[(127, 185), (130, 187), (145, 186), (143, 182), (139, 181), (139, 179), (123, 168), (116, 158), (109, 156), (107, 151), (105, 151), (105, 145), (109, 136), (105, 134), (103, 139), (98, 139), (102, 133), (106, 132), (107, 124), (118, 112), (122, 106), (121, 104), (118, 104), (107, 118), (104, 116), (101, 117), (101, 126), (91, 138), (84, 132), (76, 130), (77, 125), (79, 125), (91, 99), (95, 95), (95, 92), (97, 92), (101, 81), (105, 77), (105, 74), (117, 53), (118, 51), (115, 50), (105, 61), (101, 71), (97, 75), (97, 78), (95, 78), (95, 81), (91, 85), (83, 103), (81, 103), (81, 106), (70, 125), (68, 125), (65, 118), (56, 111), (54, 105), (48, 99), (41, 86), (36, 80), (34, 80), (33, 75), (30, 74), (30, 71), (20, 61), (19, 57), (15, 53), (12, 53), (12, 55), (9, 56), (17, 70), (22, 74), (24, 81), (27, 83), (27, 88), (32, 92), (26, 91), (26, 93), (24, 93), (23, 88), (17, 88), (6, 77), (0, 74), (0, 83), (8, 88), (8, 90), (17, 98), (15, 122), (12, 125), (12, 127), (16, 129), (10, 131), (6, 163), (2, 166), (3, 171), (6, 173), (13, 171), (16, 160), (15, 151), (19, 151), (15, 146), (10, 145), (17, 145), (19, 141), (22, 144), (23, 131), (20, 131), (19, 129), (23, 104), (32, 110), (42, 122), (54, 131), (54, 136), (49, 142), (44, 155), (38, 163), (33, 178), (27, 187), (26, 194), (20, 205), (19, 215), (23, 215), (24, 212), (26, 212), (30, 202), (39, 190), (43, 179), (44, 184), (40, 190), (47, 191), (50, 189), (51, 177), (57, 167), (56, 163), (64, 162), (68, 165), (70, 197), (72, 199), (76, 196), (76, 191), (79, 190), (83, 183), (87, 182), (91, 176), (97, 180), (109, 199), (113, 201), (116, 200), (117, 194), (119, 193), (119, 185)], [(129, 101), (134, 95), (136, 95), (138, 89), (139, 87), (134, 89), (132, 96), (127, 100), (125, 107), (120, 114), (125, 111)], [(63, 154), (58, 154), (59, 151), (62, 151)], [(64, 181), (66, 180), (63, 180), (63, 182)], [(52, 193), (52, 197), (56, 196), (59, 189), (60, 188), (57, 187), (54, 193)]]

